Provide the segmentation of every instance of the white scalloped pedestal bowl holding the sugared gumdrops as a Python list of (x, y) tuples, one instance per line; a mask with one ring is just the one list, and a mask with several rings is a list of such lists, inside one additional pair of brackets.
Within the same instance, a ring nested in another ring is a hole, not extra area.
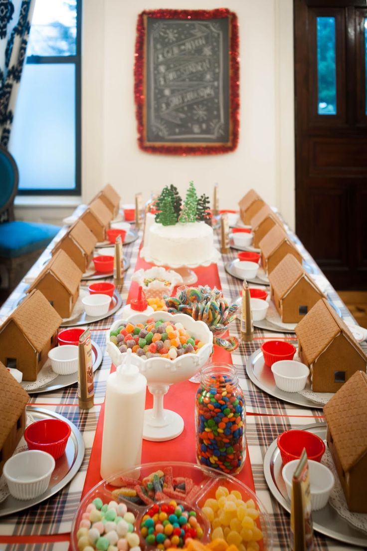
[[(213, 333), (203, 321), (195, 321), (186, 314), (169, 314), (154, 312), (153, 314), (134, 314), (129, 316), (131, 323), (145, 323), (149, 319), (164, 320), (172, 323), (182, 323), (185, 329), (204, 345), (196, 354), (187, 353), (174, 360), (168, 358), (142, 359), (137, 354), (129, 354), (131, 363), (137, 365), (139, 371), (146, 377), (149, 391), (153, 394), (153, 409), (145, 410), (143, 438), (145, 440), (163, 441), (176, 438), (184, 430), (184, 419), (178, 413), (163, 407), (163, 397), (170, 385), (186, 381), (195, 375), (208, 361), (213, 351)], [(116, 344), (110, 341), (110, 331), (114, 331), (127, 320), (115, 321), (107, 332), (106, 350), (112, 363), (116, 366), (125, 363), (126, 353), (121, 353)]]

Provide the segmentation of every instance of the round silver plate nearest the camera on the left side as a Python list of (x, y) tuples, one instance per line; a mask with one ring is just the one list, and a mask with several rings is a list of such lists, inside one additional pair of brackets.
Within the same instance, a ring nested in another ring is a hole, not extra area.
[(52, 412), (51, 410), (33, 406), (27, 406), (26, 413), (32, 415), (35, 421), (40, 421), (41, 419), (61, 419), (70, 426), (71, 435), (69, 436), (65, 453), (56, 460), (55, 469), (53, 470), (50, 484), (48, 484), (45, 493), (27, 501), (15, 499), (12, 495), (9, 495), (0, 503), (0, 517), (28, 509), (28, 507), (37, 505), (41, 503), (41, 501), (57, 494), (58, 491), (74, 478), (84, 458), (85, 447), (83, 437), (77, 427), (66, 417)]

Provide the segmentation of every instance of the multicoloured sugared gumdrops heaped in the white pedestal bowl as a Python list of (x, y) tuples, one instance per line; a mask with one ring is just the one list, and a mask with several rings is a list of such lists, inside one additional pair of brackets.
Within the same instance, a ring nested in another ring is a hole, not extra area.
[(145, 323), (122, 323), (110, 331), (110, 341), (120, 352), (132, 352), (142, 359), (169, 358), (174, 360), (182, 354), (196, 354), (204, 343), (192, 337), (182, 323), (171, 323), (164, 320), (147, 320)]

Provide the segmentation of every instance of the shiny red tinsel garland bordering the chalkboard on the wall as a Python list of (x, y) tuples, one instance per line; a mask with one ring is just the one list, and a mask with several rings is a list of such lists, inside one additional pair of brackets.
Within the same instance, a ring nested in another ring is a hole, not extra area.
[[(229, 112), (230, 112), (230, 136), (228, 143), (207, 145), (195, 144), (167, 144), (145, 142), (144, 128), (144, 42), (145, 26), (144, 16), (157, 19), (219, 19), (228, 17), (230, 21), (230, 51), (229, 53)], [(134, 96), (136, 103), (136, 118), (138, 123), (138, 144), (139, 148), (148, 153), (163, 153), (170, 155), (208, 155), (218, 153), (228, 153), (236, 149), (239, 137), (239, 107), (240, 107), (240, 65), (239, 65), (239, 32), (238, 19), (234, 12), (226, 8), (213, 10), (197, 9), (155, 9), (144, 10), (138, 15), (137, 36), (135, 44), (135, 64), (134, 64)]]

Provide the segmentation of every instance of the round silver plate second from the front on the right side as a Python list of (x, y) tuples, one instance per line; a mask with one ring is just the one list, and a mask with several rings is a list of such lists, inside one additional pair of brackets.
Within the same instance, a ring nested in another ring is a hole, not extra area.
[(260, 348), (251, 354), (247, 360), (246, 373), (255, 386), (266, 392), (269, 396), (278, 398), (283, 402), (310, 409), (322, 409), (324, 406), (324, 404), (312, 402), (312, 400), (301, 395), (299, 392), (284, 392), (284, 390), (280, 390), (274, 381), (271, 368), (265, 364)]

